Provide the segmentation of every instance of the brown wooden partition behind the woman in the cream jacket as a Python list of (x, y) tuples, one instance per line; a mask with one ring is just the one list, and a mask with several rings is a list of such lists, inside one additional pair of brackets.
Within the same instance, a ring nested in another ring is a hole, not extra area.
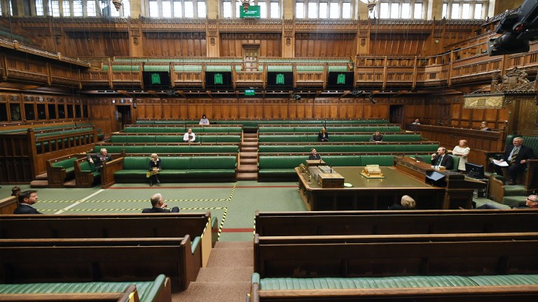
[(460, 143), (466, 140), (471, 148), (467, 159), (474, 164), (481, 164), (485, 167), (489, 164), (488, 154), (492, 152), (504, 152), (504, 141), (506, 139), (506, 128), (499, 131), (480, 131), (476, 129), (464, 129), (457, 127), (441, 127), (430, 125), (407, 125), (411, 131), (420, 131), (422, 138), (428, 141), (439, 141), (439, 145), (453, 150)]

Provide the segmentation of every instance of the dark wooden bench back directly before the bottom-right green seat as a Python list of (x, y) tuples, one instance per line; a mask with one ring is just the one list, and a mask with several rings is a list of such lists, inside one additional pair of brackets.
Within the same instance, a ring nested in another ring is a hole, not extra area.
[(254, 272), (261, 278), (538, 273), (538, 233), (426, 236), (255, 236)]

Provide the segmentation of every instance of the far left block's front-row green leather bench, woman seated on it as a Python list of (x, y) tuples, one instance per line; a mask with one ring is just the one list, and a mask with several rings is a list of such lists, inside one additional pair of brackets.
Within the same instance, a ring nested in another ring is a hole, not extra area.
[[(205, 182), (235, 181), (237, 155), (191, 155), (184, 157), (160, 157), (163, 170), (159, 178), (163, 182), (201, 180)], [(123, 168), (114, 172), (115, 182), (146, 182), (149, 157), (123, 157)], [(108, 168), (107, 165), (106, 168)]]

